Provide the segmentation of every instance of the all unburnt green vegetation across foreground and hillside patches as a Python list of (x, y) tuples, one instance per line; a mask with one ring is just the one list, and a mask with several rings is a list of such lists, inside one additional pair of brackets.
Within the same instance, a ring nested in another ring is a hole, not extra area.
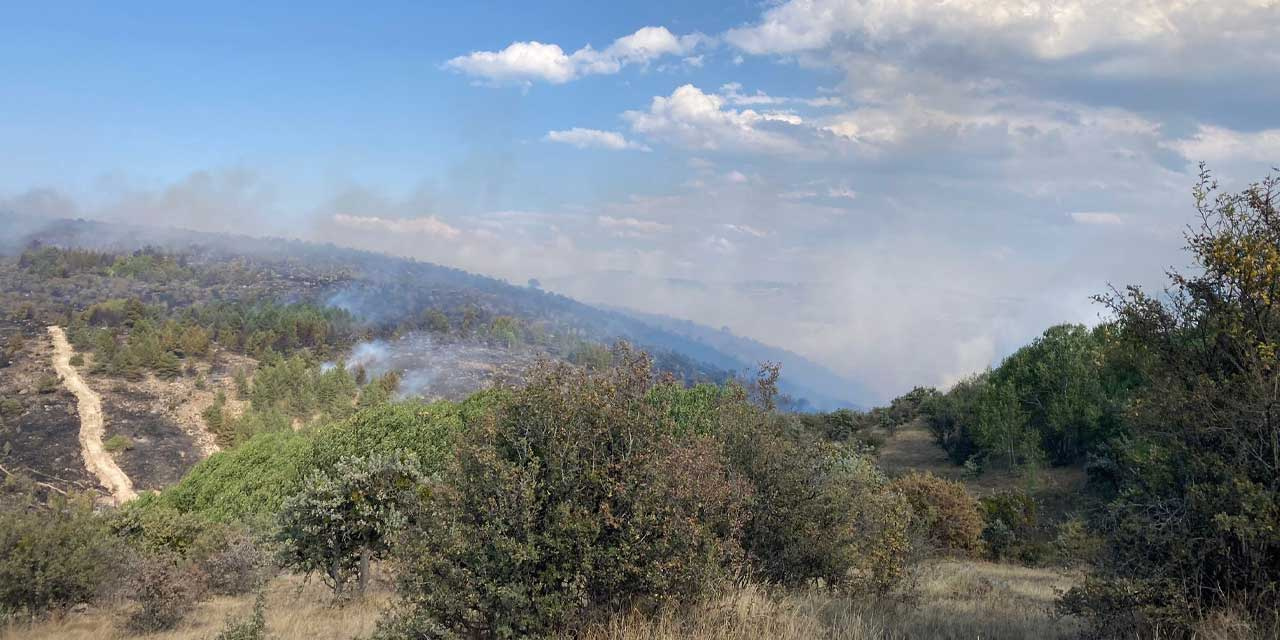
[[(1221, 195), (1206, 174), (1197, 269), (1167, 294), (1112, 292), (1108, 323), (865, 412), (787, 411), (769, 365), (687, 385), (625, 344), (403, 401), (394, 375), (324, 366), (355, 334), (321, 307), (95, 305), (77, 320), (93, 366), (166, 375), (215, 347), (261, 364), (236, 376), (242, 413), (227, 389), (204, 413), (227, 449), (157, 494), (95, 511), (6, 470), (0, 614), (33, 637), (77, 637), (67, 613), (86, 607), (111, 612), (84, 616), (95, 637), (1274, 637), (1276, 187)], [(163, 252), (36, 247), (22, 265), (202, 276)], [(480, 316), (407, 321), (558, 339)], [(887, 475), (877, 452), (924, 429), (954, 472)], [(1055, 493), (1046, 467), (1082, 480)]]

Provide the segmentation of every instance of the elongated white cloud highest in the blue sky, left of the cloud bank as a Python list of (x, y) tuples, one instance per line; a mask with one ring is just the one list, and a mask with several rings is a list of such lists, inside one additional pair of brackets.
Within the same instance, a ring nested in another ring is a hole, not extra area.
[[(584, 76), (618, 73), (626, 65), (645, 65), (664, 56), (687, 56), (707, 41), (700, 33), (676, 36), (666, 27), (644, 27), (613, 41), (604, 50), (586, 45), (571, 54), (559, 45), (512, 42), (499, 51), (472, 51), (444, 63), (492, 84), (563, 84)], [(700, 60), (699, 60), (700, 63)]]

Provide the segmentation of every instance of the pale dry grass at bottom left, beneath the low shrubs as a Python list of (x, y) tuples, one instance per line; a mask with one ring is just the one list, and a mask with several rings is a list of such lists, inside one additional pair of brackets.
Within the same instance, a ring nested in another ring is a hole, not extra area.
[[(360, 602), (334, 607), (328, 588), (317, 581), (305, 584), (300, 577), (279, 577), (266, 593), (266, 626), (270, 637), (280, 640), (346, 640), (372, 632), (383, 607), (390, 599), (385, 589)], [(201, 603), (178, 628), (147, 635), (148, 640), (207, 640), (223, 630), (228, 616), (248, 617), (253, 596), (214, 598)], [(4, 640), (115, 640), (137, 637), (122, 627), (116, 611), (91, 609), (70, 613), (61, 620), (33, 626), (0, 627)]]

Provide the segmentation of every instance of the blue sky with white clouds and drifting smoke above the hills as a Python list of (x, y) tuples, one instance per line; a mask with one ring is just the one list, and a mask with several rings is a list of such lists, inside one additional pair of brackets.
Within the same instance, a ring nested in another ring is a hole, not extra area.
[(4, 10), (0, 209), (536, 278), (869, 399), (1097, 323), (1198, 163), (1280, 164), (1277, 0), (177, 5)]

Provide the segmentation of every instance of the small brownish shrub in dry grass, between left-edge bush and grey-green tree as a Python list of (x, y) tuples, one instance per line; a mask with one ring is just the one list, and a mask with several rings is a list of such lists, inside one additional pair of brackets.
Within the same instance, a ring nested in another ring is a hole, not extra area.
[(178, 626), (202, 595), (204, 576), (193, 564), (169, 554), (142, 556), (128, 579), (127, 595), (133, 607), (124, 626), (137, 634)]

